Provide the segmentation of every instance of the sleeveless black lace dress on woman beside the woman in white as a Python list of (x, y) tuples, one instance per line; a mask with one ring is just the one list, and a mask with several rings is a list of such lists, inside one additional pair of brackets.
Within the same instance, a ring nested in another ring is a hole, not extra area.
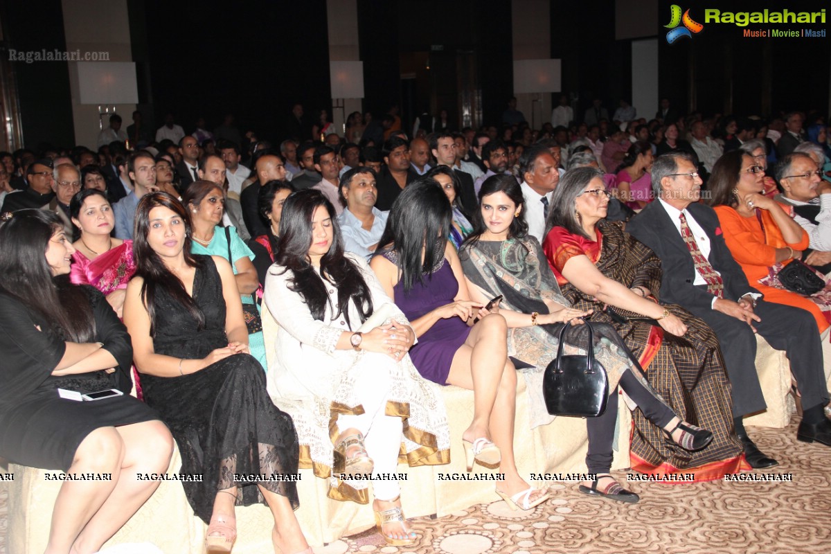
[[(196, 270), (193, 297), (204, 314), (204, 329), (199, 331), (193, 316), (166, 291), (156, 289), (157, 354), (194, 360), (228, 346), (222, 282), (214, 260), (199, 257), (204, 268)], [(268, 397), (263, 367), (253, 356), (232, 355), (180, 377), (145, 374), (141, 383), (147, 404), (160, 412), (179, 445), (180, 472), (203, 475), (202, 483), (183, 486), (204, 522), (210, 520), (217, 491), (234, 487), (235, 481), (238, 505), (264, 502), (250, 475), (265, 478), (259, 484), (299, 505), (296, 484), (280, 480), (297, 473), (297, 433), (292, 419)]]

